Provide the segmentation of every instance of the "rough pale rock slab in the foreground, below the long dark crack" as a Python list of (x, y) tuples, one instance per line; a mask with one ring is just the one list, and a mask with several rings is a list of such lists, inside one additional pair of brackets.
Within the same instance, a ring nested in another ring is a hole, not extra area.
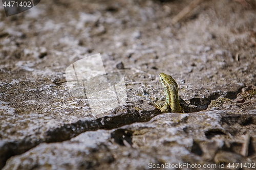
[(169, 169), (176, 164), (184, 165), (181, 169), (191, 169), (187, 164), (221, 169), (220, 163), (227, 167), (234, 162), (244, 166), (256, 162), (255, 114), (164, 113), (147, 123), (41, 143), (10, 158), (4, 169), (151, 169), (161, 164)]

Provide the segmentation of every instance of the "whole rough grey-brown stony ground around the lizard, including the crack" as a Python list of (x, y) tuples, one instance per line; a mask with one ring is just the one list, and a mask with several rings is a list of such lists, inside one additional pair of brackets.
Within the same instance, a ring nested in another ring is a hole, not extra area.
[[(256, 2), (205, 0), (172, 25), (190, 2), (41, 1), (10, 17), (0, 4), (0, 168), (255, 168)], [(95, 115), (54, 82), (97, 53), (127, 100)], [(154, 107), (160, 72), (193, 111)]]

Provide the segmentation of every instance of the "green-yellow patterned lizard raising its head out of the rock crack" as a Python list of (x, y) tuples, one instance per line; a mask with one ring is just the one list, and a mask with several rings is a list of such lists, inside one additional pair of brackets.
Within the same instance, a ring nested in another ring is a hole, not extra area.
[(155, 104), (155, 107), (161, 112), (178, 112), (184, 113), (184, 110), (181, 108), (178, 94), (178, 84), (172, 78), (172, 76), (166, 75), (164, 73), (159, 74), (160, 81), (163, 85), (165, 92), (165, 103), (161, 107), (159, 104)]

